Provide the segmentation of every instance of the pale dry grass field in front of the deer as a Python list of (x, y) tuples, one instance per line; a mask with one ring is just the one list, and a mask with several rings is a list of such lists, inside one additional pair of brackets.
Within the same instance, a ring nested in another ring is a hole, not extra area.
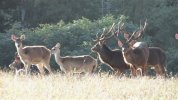
[(178, 79), (117, 78), (102, 75), (15, 77), (0, 72), (1, 100), (178, 99)]

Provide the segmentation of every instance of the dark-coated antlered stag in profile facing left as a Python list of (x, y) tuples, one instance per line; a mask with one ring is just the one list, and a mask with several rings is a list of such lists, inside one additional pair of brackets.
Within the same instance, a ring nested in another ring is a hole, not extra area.
[(95, 45), (93, 45), (91, 51), (97, 53), (99, 60), (115, 71), (116, 75), (122, 75), (126, 70), (130, 69), (130, 67), (124, 62), (122, 51), (119, 49), (111, 50), (106, 45), (106, 40), (113, 37), (113, 35), (107, 36), (112, 31), (113, 27), (114, 24), (107, 33), (103, 30), (100, 37), (96, 34), (96, 40), (93, 40)]

